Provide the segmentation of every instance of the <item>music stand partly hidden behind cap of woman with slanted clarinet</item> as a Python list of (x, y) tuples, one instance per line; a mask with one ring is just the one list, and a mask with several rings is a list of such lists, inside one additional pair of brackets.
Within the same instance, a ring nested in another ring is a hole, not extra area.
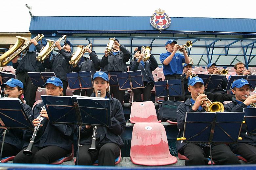
[(29, 72), (28, 76), (34, 87), (44, 86), (48, 78), (56, 77), (54, 72)]

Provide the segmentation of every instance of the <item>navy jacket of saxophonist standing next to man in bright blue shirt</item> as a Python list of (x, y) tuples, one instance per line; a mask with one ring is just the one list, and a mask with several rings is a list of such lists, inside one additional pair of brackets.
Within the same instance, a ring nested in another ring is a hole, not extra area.
[(144, 62), (144, 67), (140, 62), (137, 62), (137, 60), (131, 61), (129, 71), (141, 70), (143, 82), (150, 83), (154, 82), (152, 71), (154, 71), (157, 67), (157, 60), (153, 55), (150, 55), (149, 59), (146, 62)]

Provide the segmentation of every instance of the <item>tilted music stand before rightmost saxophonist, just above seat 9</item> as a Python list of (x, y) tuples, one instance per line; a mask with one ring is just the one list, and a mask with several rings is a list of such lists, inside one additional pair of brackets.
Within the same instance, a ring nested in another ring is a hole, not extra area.
[(130, 71), (117, 74), (119, 90), (131, 89), (133, 102), (133, 89), (144, 88), (141, 71)]

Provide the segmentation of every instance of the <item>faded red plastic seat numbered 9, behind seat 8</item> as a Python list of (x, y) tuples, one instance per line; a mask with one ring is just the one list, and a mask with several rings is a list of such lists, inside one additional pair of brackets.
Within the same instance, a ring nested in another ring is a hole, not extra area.
[(157, 120), (157, 112), (154, 103), (152, 101), (148, 101), (132, 103), (130, 122), (160, 123), (161, 121)]

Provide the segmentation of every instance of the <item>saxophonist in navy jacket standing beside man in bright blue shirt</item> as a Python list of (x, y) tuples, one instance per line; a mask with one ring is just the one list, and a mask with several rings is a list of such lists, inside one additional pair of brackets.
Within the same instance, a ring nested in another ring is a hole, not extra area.
[(143, 94), (143, 101), (151, 100), (151, 90), (154, 87), (154, 78), (151, 71), (158, 68), (157, 60), (150, 54), (148, 60), (143, 61), (144, 53), (141, 52), (141, 47), (137, 47), (134, 50), (134, 61), (130, 62), (129, 71), (140, 70), (143, 78), (143, 84), (145, 88), (134, 89), (134, 101), (141, 101), (141, 93)]

